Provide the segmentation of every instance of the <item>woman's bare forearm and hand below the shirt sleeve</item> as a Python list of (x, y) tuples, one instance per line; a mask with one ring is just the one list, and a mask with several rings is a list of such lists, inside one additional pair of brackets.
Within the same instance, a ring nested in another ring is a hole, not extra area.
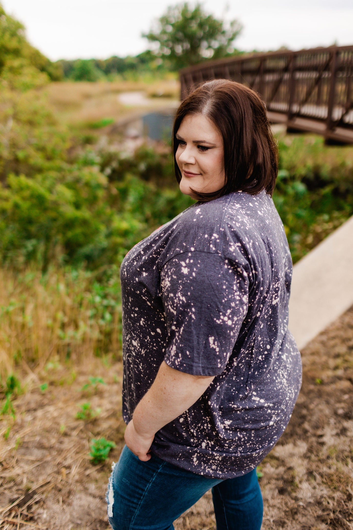
[(135, 408), (125, 430), (130, 451), (147, 461), (156, 432), (185, 412), (202, 396), (214, 376), (197, 376), (170, 368), (164, 361), (155, 382)]

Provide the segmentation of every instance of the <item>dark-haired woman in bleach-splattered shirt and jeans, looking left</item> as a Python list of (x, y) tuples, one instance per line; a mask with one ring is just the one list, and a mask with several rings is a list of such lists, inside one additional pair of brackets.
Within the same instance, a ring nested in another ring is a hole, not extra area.
[(128, 426), (108, 517), (114, 530), (172, 530), (212, 488), (218, 530), (259, 530), (256, 466), (301, 386), (277, 147), (259, 96), (217, 80), (180, 104), (173, 148), (180, 191), (198, 202), (122, 263)]

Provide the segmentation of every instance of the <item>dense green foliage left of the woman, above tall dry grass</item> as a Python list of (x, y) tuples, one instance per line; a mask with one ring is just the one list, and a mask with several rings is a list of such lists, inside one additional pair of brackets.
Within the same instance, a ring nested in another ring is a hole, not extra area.
[(86, 151), (74, 164), (57, 158), (35, 166), (37, 174), (33, 164), (29, 175), (8, 173), (0, 188), (0, 260), (17, 268), (119, 265), (131, 246), (192, 204), (175, 184), (166, 187), (170, 156), (151, 149), (130, 157)]

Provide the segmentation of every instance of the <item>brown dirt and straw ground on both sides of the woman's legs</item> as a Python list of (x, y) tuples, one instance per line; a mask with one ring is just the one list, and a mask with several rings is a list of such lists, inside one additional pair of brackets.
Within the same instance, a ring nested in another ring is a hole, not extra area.
[[(260, 466), (263, 529), (352, 530), (353, 307), (302, 357), (303, 387), (291, 422)], [(82, 390), (89, 377), (105, 384)], [(77, 420), (87, 402), (101, 411)], [(0, 528), (107, 530), (106, 484), (123, 446), (121, 364), (52, 362), (38, 374), (28, 368), (28, 390), (13, 404), (15, 419), (3, 416), (0, 428)], [(105, 464), (92, 465), (89, 441), (102, 436), (116, 447)], [(214, 529), (210, 493), (175, 528)]]

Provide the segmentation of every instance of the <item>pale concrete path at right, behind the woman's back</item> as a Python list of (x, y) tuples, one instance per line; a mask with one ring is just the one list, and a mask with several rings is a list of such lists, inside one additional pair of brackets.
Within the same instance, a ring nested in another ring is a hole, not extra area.
[(301, 350), (353, 304), (353, 216), (293, 268), (289, 330)]

